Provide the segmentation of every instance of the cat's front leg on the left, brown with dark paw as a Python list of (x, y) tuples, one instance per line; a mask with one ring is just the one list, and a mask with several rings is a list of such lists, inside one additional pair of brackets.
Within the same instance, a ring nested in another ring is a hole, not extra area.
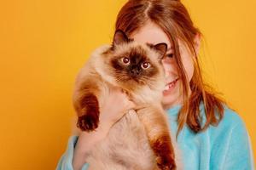
[(73, 105), (78, 114), (77, 127), (82, 131), (92, 131), (98, 127), (100, 105), (97, 96), (100, 96), (95, 77), (86, 78), (75, 84)]

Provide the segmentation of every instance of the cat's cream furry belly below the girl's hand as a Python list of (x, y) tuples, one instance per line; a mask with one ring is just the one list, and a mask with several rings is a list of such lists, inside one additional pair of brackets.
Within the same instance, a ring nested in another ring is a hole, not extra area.
[(94, 158), (105, 165), (121, 165), (125, 169), (152, 169), (154, 152), (151, 150), (143, 124), (137, 113), (130, 111), (113, 125), (108, 137), (96, 145)]

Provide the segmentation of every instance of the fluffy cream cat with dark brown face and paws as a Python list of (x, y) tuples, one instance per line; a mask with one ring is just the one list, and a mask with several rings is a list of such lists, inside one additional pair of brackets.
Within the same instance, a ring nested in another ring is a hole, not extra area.
[[(161, 59), (166, 43), (141, 44), (116, 31), (113, 44), (97, 48), (79, 71), (73, 93), (77, 127), (98, 127), (109, 87), (119, 87), (137, 105), (128, 111), (86, 157), (92, 170), (179, 169), (166, 113), (161, 106), (165, 87)], [(114, 107), (114, 105), (113, 105)]]

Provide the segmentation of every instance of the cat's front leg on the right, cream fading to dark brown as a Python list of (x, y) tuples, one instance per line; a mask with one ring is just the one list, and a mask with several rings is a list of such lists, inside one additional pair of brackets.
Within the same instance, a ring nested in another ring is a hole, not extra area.
[(158, 106), (147, 106), (137, 110), (154, 150), (156, 163), (161, 170), (175, 170), (175, 156), (165, 112)]

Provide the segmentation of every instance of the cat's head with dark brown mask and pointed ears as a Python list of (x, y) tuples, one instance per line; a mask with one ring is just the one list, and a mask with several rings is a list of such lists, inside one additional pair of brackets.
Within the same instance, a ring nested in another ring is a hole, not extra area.
[(164, 82), (164, 71), (160, 59), (166, 53), (166, 44), (140, 44), (128, 39), (123, 31), (116, 31), (113, 48), (105, 54), (115, 82), (125, 89), (143, 86), (157, 88)]

